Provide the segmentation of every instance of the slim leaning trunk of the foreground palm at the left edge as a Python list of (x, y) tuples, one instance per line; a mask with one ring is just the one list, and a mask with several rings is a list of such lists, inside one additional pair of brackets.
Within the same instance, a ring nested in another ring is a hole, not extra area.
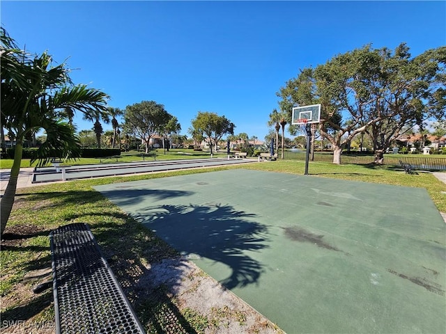
[(17, 180), (20, 173), (20, 162), (22, 161), (22, 152), (22, 142), (17, 141), (15, 144), (13, 168), (11, 168), (10, 171), (10, 177), (5, 193), (0, 200), (0, 239), (3, 238), (3, 231), (6, 228), (6, 223), (8, 223), (11, 210), (13, 209), (15, 191), (17, 190)]

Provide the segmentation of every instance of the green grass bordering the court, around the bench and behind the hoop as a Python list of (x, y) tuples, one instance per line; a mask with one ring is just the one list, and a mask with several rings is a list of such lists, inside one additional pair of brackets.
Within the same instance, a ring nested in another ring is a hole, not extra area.
[[(177, 155), (178, 152), (175, 154), (172, 152), (172, 156)], [(3, 164), (1, 168), (5, 168)], [(20, 319), (52, 321), (54, 319), (52, 290), (49, 289), (42, 294), (33, 294), (31, 291), (38, 283), (50, 278), (51, 257), (48, 234), (59, 225), (84, 222), (91, 225), (98, 243), (110, 259), (114, 273), (121, 285), (125, 287), (128, 298), (135, 305), (139, 319), (148, 328), (148, 333), (155, 333), (153, 321), (157, 317), (162, 317), (163, 305), (175, 303), (175, 299), (172, 297), (168, 301), (165, 299), (143, 301), (132, 287), (138, 280), (141, 264), (149, 266), (162, 259), (175, 256), (176, 252), (121, 209), (112, 205), (109, 200), (93, 190), (92, 186), (206, 173), (228, 168), (240, 167), (107, 177), (18, 189), (15, 206), (5, 231), (5, 239), (1, 241), (2, 326), (4, 327), (4, 321)], [(265, 164), (247, 164), (243, 168), (302, 175), (305, 163), (275, 161)], [(401, 169), (395, 170), (386, 166), (350, 164), (334, 166), (322, 162), (310, 164), (309, 173), (318, 177), (332, 177), (340, 180), (425, 188), (438, 210), (446, 212), (446, 184), (438, 181), (431, 173), (420, 172), (418, 175), (406, 175)], [(159, 310), (161, 314), (155, 314), (157, 311), (154, 310)], [(197, 315), (193, 310), (180, 311), (197, 333), (203, 333), (203, 326), (206, 327), (206, 324), (210, 323), (206, 315)], [(46, 332), (42, 329), (33, 333)]]

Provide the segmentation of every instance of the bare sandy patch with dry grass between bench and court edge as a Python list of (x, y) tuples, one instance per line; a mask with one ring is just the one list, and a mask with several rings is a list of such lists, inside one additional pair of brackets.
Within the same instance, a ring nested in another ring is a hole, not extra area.
[[(184, 257), (154, 264), (135, 288), (144, 291), (146, 301), (156, 301), (151, 305), (139, 303), (137, 308), (150, 306), (154, 310), (151, 319), (144, 322), (158, 333), (283, 333)], [(164, 305), (160, 305), (163, 300)], [(175, 302), (171, 303), (172, 300)], [(181, 312), (177, 312), (177, 308)], [(161, 310), (169, 317), (159, 317), (155, 310)], [(176, 331), (164, 332), (164, 328), (176, 328)]]

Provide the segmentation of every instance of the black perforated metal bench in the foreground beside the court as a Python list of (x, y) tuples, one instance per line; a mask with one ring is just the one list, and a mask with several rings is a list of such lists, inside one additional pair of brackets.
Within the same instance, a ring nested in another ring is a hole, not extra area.
[(49, 234), (56, 333), (145, 333), (89, 225)]

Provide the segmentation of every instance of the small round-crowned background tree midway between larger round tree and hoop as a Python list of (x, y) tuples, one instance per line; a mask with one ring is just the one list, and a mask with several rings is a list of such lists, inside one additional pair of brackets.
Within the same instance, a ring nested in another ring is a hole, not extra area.
[(225, 134), (233, 134), (236, 127), (233, 122), (224, 116), (218, 116), (217, 113), (208, 111), (199, 111), (196, 118), (192, 120), (192, 127), (208, 136), (210, 145), (210, 154), (212, 154), (213, 144), (217, 149), (217, 143)]

